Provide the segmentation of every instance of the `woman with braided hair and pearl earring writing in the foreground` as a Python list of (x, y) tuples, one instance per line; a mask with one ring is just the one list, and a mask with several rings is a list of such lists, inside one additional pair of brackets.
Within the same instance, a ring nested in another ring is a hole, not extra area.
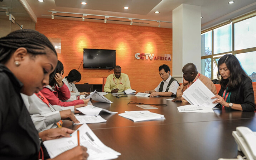
[[(28, 96), (49, 83), (57, 53), (38, 31), (17, 30), (0, 38), (0, 159), (36, 160), (40, 141), (70, 137), (70, 129), (50, 129), (38, 134), (20, 93)], [(74, 147), (54, 159), (87, 159), (86, 148)]]

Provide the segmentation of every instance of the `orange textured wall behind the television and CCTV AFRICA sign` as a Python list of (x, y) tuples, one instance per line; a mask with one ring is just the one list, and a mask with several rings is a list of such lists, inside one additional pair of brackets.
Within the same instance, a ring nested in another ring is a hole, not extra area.
[[(135, 58), (135, 53), (172, 54), (172, 29), (45, 18), (37, 19), (35, 29), (48, 38), (61, 38), (58, 59), (64, 65), (64, 76), (78, 69), (83, 48), (115, 49), (116, 65), (128, 74), (137, 92), (154, 89), (160, 83), (158, 67), (162, 64), (170, 67), (172, 75), (172, 61)], [(79, 72), (79, 84), (101, 84), (102, 77), (113, 73), (108, 69), (83, 69), (82, 65)]]

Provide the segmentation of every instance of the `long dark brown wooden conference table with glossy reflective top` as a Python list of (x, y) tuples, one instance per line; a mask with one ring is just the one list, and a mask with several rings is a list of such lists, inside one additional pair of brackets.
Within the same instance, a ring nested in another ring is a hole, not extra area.
[[(256, 115), (253, 112), (214, 110), (214, 113), (180, 113), (178, 106), (184, 102), (172, 102), (169, 97), (116, 98), (105, 95), (113, 103), (92, 102), (93, 106), (118, 112), (115, 115), (100, 113), (105, 123), (88, 124), (96, 136), (108, 147), (121, 153), (118, 160), (217, 160), (235, 158), (241, 152), (232, 131), (237, 126), (247, 126), (256, 131)], [(125, 111), (144, 110), (128, 102), (146, 104), (164, 103), (150, 112), (165, 116), (166, 120), (133, 122), (118, 116)], [(66, 123), (77, 129), (79, 125)]]

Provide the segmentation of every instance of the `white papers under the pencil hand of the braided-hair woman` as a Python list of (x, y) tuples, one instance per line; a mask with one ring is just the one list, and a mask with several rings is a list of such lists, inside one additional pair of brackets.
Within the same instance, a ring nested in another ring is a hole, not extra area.
[[(87, 147), (87, 153), (89, 154), (87, 160), (110, 160), (116, 159), (121, 155), (119, 152), (104, 145), (86, 124), (79, 127), (79, 135), (80, 145)], [(54, 158), (78, 145), (77, 131), (73, 132), (71, 137), (44, 141), (43, 144), (50, 158)]]

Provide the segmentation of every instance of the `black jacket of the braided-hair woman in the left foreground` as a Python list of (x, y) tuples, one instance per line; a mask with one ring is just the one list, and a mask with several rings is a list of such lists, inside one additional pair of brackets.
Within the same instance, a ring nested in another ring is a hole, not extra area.
[(38, 132), (20, 96), (23, 84), (0, 64), (0, 159), (35, 160)]

